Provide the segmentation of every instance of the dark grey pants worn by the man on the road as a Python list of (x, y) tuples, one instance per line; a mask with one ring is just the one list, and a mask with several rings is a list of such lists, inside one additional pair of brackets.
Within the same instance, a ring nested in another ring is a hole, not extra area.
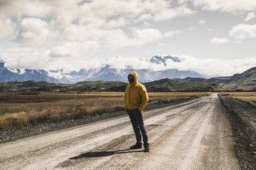
[(134, 127), (134, 133), (136, 136), (137, 143), (141, 143), (141, 134), (142, 134), (144, 145), (148, 145), (149, 143), (147, 143), (148, 142), (147, 132), (145, 130), (142, 113), (138, 109), (137, 110), (127, 109), (127, 112), (131, 120), (131, 125), (132, 127)]

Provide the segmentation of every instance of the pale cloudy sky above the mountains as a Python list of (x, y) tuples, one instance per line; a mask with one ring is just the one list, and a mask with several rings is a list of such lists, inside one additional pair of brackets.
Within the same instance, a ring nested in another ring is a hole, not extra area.
[(169, 69), (224, 76), (256, 66), (255, 45), (255, 0), (0, 0), (10, 68), (143, 69), (172, 55), (185, 60)]

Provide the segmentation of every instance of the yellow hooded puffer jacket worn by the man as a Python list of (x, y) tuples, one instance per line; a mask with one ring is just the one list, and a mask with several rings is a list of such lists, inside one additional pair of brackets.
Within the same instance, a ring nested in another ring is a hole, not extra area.
[(143, 111), (149, 101), (147, 89), (138, 83), (138, 74), (135, 71), (131, 71), (129, 75), (134, 75), (134, 82), (125, 89), (125, 110), (128, 108)]

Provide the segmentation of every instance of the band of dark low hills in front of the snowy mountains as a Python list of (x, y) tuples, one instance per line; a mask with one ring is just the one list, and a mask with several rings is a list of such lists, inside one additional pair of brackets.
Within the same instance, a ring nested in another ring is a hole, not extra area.
[[(148, 91), (215, 91), (215, 90), (256, 90), (256, 67), (230, 77), (186, 77), (184, 79), (165, 78), (143, 83)], [(127, 82), (85, 81), (76, 84), (56, 84), (49, 82), (6, 82), (0, 83), (0, 92), (85, 92), (124, 91)]]

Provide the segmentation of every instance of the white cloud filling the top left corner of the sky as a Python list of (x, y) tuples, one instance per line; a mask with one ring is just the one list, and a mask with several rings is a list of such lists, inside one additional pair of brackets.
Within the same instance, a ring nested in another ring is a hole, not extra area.
[(1, 0), (0, 16), (17, 16), (19, 20), (22, 16), (33, 16), (38, 18), (52, 17), (52, 26), (64, 27), (70, 24), (78, 16), (78, 2), (81, 0)]

